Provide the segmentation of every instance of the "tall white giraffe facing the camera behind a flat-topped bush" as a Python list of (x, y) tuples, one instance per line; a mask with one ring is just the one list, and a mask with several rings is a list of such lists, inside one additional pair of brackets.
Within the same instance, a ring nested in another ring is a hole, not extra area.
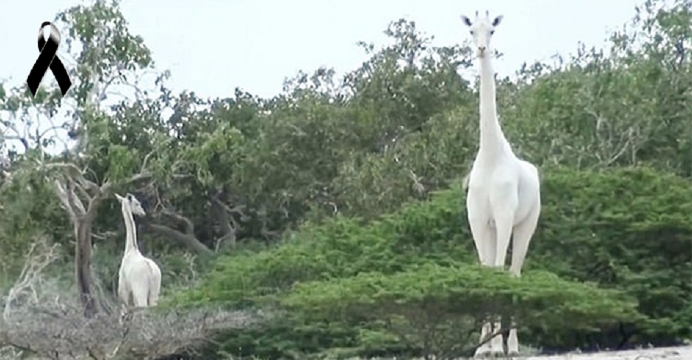
[[(468, 174), (466, 211), (473, 242), (482, 265), (504, 269), (509, 239), (512, 238), (512, 260), (509, 271), (520, 276), (531, 236), (540, 215), (540, 182), (533, 164), (518, 159), (502, 134), (495, 100), (490, 40), (502, 15), (491, 19), (475, 13), (475, 19), (462, 15), (471, 30), (480, 64), (480, 146), (471, 173)], [(513, 324), (514, 325), (514, 324)], [(500, 329), (500, 319), (484, 323), (480, 339)], [(507, 353), (517, 356), (519, 342), (516, 328), (509, 332)], [(475, 357), (504, 355), (502, 336), (477, 348)]]

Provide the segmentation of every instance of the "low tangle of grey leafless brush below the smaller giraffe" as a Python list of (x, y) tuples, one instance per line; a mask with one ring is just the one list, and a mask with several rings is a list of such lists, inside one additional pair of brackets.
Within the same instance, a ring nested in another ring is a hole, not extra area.
[(217, 330), (245, 328), (261, 320), (250, 312), (221, 309), (140, 309), (125, 321), (118, 312), (85, 318), (69, 303), (24, 307), (12, 315), (0, 330), (0, 348), (51, 359), (69, 355), (98, 360), (170, 356), (201, 345)]

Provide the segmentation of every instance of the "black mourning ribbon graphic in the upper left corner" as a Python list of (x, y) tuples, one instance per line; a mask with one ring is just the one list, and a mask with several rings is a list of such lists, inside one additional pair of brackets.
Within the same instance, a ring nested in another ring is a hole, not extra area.
[[(48, 37), (47, 42), (43, 37), (43, 28), (46, 26), (51, 26), (51, 36)], [(62, 96), (65, 96), (72, 86), (70, 75), (60, 61), (60, 57), (55, 56), (58, 46), (60, 46), (60, 32), (50, 21), (44, 21), (39, 29), (39, 51), (41, 53), (38, 59), (36, 59), (34, 66), (31, 68), (28, 78), (26, 78), (26, 84), (28, 84), (29, 90), (31, 90), (31, 94), (34, 97), (36, 97), (36, 91), (38, 91), (41, 80), (43, 80), (48, 69), (51, 69), (51, 72), (55, 76), (55, 80), (57, 80), (57, 84), (60, 86)]]

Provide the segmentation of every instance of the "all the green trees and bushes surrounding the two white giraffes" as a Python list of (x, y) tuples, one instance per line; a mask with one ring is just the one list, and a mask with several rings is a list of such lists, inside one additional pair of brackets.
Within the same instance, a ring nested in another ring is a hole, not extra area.
[[(689, 341), (692, 4), (635, 10), (608, 48), (498, 78), (504, 132), (543, 181), (525, 271), (511, 278), (477, 265), (466, 224), (460, 180), (478, 132), (477, 89), (459, 75), (474, 66), (466, 44), (432, 46), (401, 19), (392, 44), (361, 44), (358, 69), (299, 73), (273, 98), (176, 94), (163, 71), (153, 95), (114, 99), (108, 89), (156, 71), (152, 54), (117, 1), (67, 9), (57, 22), (75, 88), (33, 100), (0, 87), (6, 313), (41, 296), (85, 318), (111, 313), (124, 248), (113, 192), (131, 192), (147, 210), (143, 251), (163, 270), (157, 312), (262, 314), (147, 356), (453, 357), (497, 313), (545, 351)], [(60, 139), (24, 125), (64, 111), (53, 125), (76, 145), (51, 155)]]

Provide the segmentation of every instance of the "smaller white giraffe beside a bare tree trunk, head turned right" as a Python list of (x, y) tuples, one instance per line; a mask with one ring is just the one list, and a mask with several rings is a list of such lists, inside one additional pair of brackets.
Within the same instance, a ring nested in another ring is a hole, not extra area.
[(125, 220), (125, 253), (122, 254), (118, 271), (118, 297), (125, 304), (136, 307), (156, 306), (161, 291), (161, 269), (154, 260), (146, 258), (139, 251), (137, 232), (133, 214), (145, 216), (146, 213), (136, 197), (127, 194), (120, 201), (122, 219)]

